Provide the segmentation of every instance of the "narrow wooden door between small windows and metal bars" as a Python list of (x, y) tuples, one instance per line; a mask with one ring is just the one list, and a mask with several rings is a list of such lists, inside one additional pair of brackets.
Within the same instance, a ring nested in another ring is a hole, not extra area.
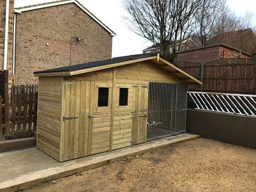
[(148, 84), (134, 85), (132, 144), (146, 142)]

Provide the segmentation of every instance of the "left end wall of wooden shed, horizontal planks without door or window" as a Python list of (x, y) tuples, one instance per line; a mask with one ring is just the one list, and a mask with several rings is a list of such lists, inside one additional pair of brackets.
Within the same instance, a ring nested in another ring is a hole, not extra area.
[(39, 77), (37, 147), (60, 161), (63, 77)]

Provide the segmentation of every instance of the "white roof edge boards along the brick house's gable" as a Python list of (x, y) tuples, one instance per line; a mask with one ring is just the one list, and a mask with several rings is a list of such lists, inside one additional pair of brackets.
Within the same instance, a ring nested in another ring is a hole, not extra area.
[(49, 2), (49, 3), (27, 6), (27, 7), (14, 8), (14, 13), (22, 13), (22, 12), (27, 12), (27, 11), (31, 11), (31, 10), (37, 10), (37, 9), (53, 7), (53, 6), (57, 6), (57, 5), (69, 4), (69, 3), (76, 4), (80, 9), (82, 9), (91, 18), (93, 18), (98, 24), (100, 24), (104, 29), (106, 29), (110, 33), (111, 36), (116, 36), (116, 33), (114, 33), (109, 27), (107, 27), (105, 24), (103, 24), (95, 15), (93, 15), (91, 12), (89, 12), (82, 4), (80, 4), (76, 0), (61, 0), (61, 1), (55, 1), (55, 2)]

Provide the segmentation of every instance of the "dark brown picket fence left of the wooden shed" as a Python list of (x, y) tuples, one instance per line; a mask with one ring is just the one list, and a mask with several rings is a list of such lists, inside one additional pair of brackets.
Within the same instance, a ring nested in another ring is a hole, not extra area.
[(37, 85), (15, 85), (0, 96), (0, 136), (36, 130), (37, 93)]

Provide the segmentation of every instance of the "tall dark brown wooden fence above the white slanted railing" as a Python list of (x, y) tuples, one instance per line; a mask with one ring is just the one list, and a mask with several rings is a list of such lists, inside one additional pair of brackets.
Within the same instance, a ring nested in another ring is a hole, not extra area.
[[(185, 72), (203, 80), (201, 91), (256, 94), (256, 60), (221, 59), (207, 63), (177, 62)], [(200, 85), (189, 85), (190, 91), (200, 91)]]

